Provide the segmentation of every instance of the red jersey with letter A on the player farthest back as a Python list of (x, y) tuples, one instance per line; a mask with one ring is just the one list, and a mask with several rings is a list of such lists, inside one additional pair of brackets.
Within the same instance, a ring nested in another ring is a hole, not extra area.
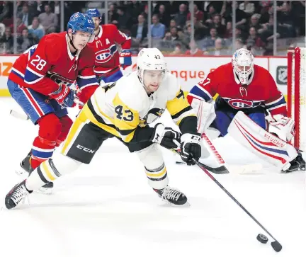
[(130, 50), (130, 37), (120, 32), (113, 24), (100, 25), (100, 32), (96, 35), (94, 42), (87, 45), (95, 52), (96, 76), (109, 73), (111, 75), (119, 69), (119, 53), (117, 45), (123, 50)]

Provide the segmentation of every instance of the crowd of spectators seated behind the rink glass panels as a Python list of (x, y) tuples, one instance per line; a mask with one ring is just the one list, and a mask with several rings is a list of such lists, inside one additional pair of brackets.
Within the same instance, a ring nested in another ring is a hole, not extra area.
[[(96, 3), (96, 2), (95, 2)], [(101, 1), (108, 8), (107, 23), (132, 38), (132, 52), (148, 46), (147, 1)], [(88, 1), (64, 1), (64, 24), (75, 11), (86, 11)], [(17, 1), (17, 50), (23, 52), (43, 35), (60, 31), (60, 1)], [(232, 42), (232, 15), (236, 13)], [(194, 30), (191, 24), (193, 11)], [(273, 54), (273, 1), (152, 1), (150, 33), (152, 45), (169, 55), (231, 55), (246, 47), (254, 55)], [(276, 37), (305, 35), (305, 1), (277, 1)], [(102, 23), (105, 21), (105, 14)], [(13, 2), (0, 1), (0, 45), (2, 53), (13, 52)], [(194, 34), (194, 40), (191, 40)], [(291, 41), (285, 41), (288, 47)], [(234, 45), (232, 45), (234, 43)]]

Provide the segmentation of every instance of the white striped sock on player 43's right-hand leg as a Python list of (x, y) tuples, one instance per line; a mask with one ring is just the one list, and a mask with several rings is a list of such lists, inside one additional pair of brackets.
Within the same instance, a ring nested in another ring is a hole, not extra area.
[(148, 183), (154, 189), (165, 188), (169, 183), (166, 166), (162, 152), (157, 144), (151, 144), (149, 147), (136, 152), (142, 164), (145, 165), (145, 173)]

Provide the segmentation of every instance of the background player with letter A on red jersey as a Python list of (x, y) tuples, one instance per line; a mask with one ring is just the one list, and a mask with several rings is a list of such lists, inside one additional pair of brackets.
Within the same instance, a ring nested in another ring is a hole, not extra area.
[[(95, 24), (94, 42), (89, 43), (89, 47), (95, 52), (94, 72), (98, 82), (118, 81), (123, 76), (120, 65), (125, 69), (132, 64), (131, 39), (113, 24), (100, 25), (101, 13), (98, 9), (89, 9), (86, 14), (91, 16)], [(116, 44), (122, 47), (120, 53)], [(95, 90), (94, 87), (83, 88), (78, 96), (81, 101), (86, 102), (84, 99), (88, 99)]]

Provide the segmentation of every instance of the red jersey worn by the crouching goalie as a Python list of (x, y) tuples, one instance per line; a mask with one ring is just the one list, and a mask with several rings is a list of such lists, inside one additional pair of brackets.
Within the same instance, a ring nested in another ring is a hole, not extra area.
[(233, 109), (245, 110), (262, 106), (271, 115), (287, 115), (283, 94), (278, 91), (271, 74), (258, 65), (254, 65), (248, 85), (242, 85), (234, 74), (232, 63), (222, 65), (210, 72), (206, 79), (191, 88), (188, 102), (193, 98), (209, 101), (216, 94)]

